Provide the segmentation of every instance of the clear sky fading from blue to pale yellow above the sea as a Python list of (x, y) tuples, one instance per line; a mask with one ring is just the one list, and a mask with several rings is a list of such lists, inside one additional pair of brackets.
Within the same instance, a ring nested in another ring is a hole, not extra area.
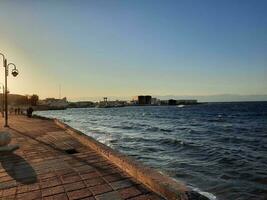
[(266, 95), (266, 9), (266, 0), (1, 0), (0, 52), (20, 72), (8, 88), (46, 98), (61, 87), (83, 100)]

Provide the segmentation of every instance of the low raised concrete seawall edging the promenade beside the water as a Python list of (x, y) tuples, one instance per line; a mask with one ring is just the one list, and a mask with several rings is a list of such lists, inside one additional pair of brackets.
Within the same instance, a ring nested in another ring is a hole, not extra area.
[(54, 122), (79, 142), (94, 149), (114, 165), (118, 166), (122, 171), (125, 171), (163, 198), (168, 200), (208, 200), (208, 198), (192, 191), (184, 184), (111, 149), (60, 120), (54, 119)]

